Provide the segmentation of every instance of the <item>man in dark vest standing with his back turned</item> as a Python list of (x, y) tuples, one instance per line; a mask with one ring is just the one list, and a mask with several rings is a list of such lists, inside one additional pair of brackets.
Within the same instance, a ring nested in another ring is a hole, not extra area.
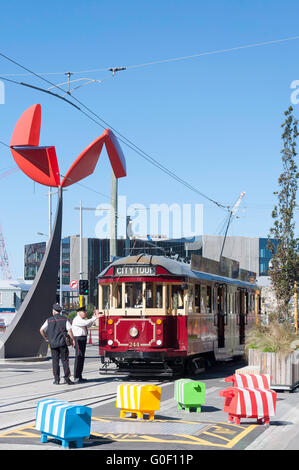
[(70, 380), (70, 367), (69, 367), (69, 350), (66, 343), (66, 335), (72, 339), (73, 345), (75, 344), (72, 332), (72, 326), (66, 317), (61, 315), (62, 308), (59, 304), (53, 305), (52, 317), (48, 318), (41, 326), (40, 334), (49, 343), (52, 355), (54, 384), (58, 385), (60, 382), (60, 367), (59, 360), (61, 360), (64, 370), (64, 383), (73, 385), (74, 382)]

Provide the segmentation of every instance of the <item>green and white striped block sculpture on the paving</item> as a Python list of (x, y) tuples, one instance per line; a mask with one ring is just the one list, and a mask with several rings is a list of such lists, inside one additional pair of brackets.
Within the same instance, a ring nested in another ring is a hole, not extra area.
[(196, 408), (201, 412), (205, 403), (206, 384), (191, 379), (179, 379), (174, 383), (174, 399), (178, 402), (178, 410)]

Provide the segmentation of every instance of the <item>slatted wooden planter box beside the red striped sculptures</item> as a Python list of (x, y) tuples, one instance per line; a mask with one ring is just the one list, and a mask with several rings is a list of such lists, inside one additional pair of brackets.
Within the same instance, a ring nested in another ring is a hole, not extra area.
[(249, 349), (248, 365), (258, 367), (260, 374), (272, 375), (271, 389), (291, 391), (299, 386), (299, 350), (282, 356)]

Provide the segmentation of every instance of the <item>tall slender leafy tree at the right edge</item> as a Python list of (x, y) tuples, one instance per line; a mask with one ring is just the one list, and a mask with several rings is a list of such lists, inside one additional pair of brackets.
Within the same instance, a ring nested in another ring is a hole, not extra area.
[[(269, 275), (277, 299), (277, 313), (279, 318), (287, 319), (290, 299), (294, 294), (294, 285), (299, 274), (299, 240), (294, 234), (294, 211), (299, 177), (296, 164), (296, 139), (299, 134), (292, 106), (284, 114), (286, 119), (281, 125), (283, 172), (278, 179), (280, 191), (274, 192), (278, 196), (278, 203), (272, 211), (274, 223), (270, 229), (267, 247), (273, 255)], [(277, 247), (270, 238), (278, 241)]]

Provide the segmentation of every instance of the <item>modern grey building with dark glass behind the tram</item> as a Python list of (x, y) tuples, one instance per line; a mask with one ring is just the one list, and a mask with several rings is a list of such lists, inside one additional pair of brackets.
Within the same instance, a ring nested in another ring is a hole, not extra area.
[[(144, 237), (144, 239), (118, 239), (117, 255), (127, 256), (130, 253), (142, 252), (153, 255), (171, 254), (191, 260), (191, 255), (199, 255), (214, 261), (219, 261), (224, 237), (203, 235), (192, 239), (167, 239), (163, 237)], [(266, 247), (266, 238), (227, 237), (223, 257), (238, 262), (239, 269), (256, 273), (258, 276), (267, 274), (269, 260), (272, 255)], [(25, 245), (24, 279), (33, 280), (36, 276), (46, 242)], [(80, 261), (82, 259), (82, 261)], [(81, 267), (82, 263), (82, 267)], [(69, 286), (71, 281), (82, 279), (89, 281), (89, 295), (86, 303), (97, 305), (98, 286), (97, 276), (110, 263), (110, 240), (99, 238), (82, 239), (82, 258), (80, 257), (80, 236), (72, 235), (62, 240), (62, 284)], [(58, 281), (59, 283), (59, 281)], [(72, 302), (78, 303), (73, 292)], [(72, 303), (68, 299), (68, 304)]]

